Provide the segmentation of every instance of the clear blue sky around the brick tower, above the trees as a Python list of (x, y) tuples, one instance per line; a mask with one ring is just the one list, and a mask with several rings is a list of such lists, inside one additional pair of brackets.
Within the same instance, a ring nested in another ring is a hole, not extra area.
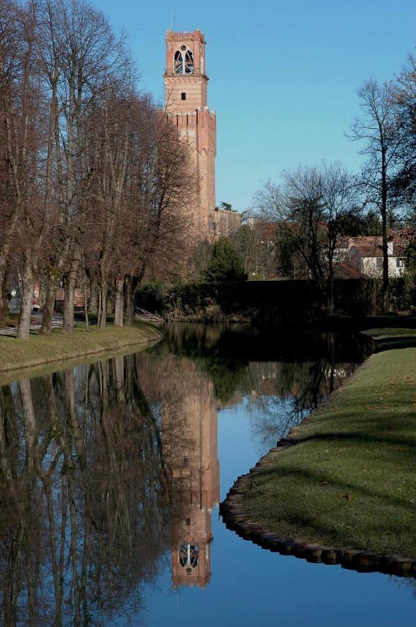
[(166, 29), (207, 39), (208, 102), (217, 113), (216, 199), (250, 206), (262, 180), (299, 162), (360, 167), (344, 132), (357, 88), (390, 80), (415, 52), (415, 0), (93, 0), (125, 26), (141, 88), (163, 99)]

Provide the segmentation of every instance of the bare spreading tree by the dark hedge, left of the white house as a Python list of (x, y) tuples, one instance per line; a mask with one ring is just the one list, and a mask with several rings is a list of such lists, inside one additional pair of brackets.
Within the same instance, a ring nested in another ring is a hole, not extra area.
[(283, 174), (282, 186), (266, 183), (255, 196), (255, 207), (266, 222), (278, 224), (303, 276), (315, 281), (334, 313), (336, 249), (345, 235), (345, 217), (355, 210), (355, 186), (339, 164), (300, 166)]

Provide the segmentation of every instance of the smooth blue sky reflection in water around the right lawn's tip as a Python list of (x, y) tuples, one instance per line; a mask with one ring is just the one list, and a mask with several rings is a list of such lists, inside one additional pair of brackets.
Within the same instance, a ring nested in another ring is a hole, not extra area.
[[(280, 403), (279, 411), (289, 400)], [(258, 457), (249, 401), (218, 413), (221, 500), (239, 474)], [(273, 442), (271, 442), (273, 445)], [(268, 444), (269, 446), (269, 444)], [(263, 449), (264, 451), (264, 449)], [(415, 625), (416, 587), (381, 573), (355, 573), (340, 566), (308, 564), (244, 541), (212, 516), (211, 581), (205, 589), (170, 585), (166, 568), (145, 592), (148, 626), (330, 626), (405, 627)], [(127, 624), (123, 621), (120, 624)]]

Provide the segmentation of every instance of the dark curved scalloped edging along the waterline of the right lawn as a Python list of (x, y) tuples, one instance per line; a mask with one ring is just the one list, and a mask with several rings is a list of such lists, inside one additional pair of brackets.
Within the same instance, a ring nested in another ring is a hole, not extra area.
[(276, 454), (281, 454), (287, 447), (296, 446), (296, 440), (289, 437), (282, 438), (269, 453), (259, 459), (255, 467), (247, 474), (241, 474), (234, 481), (225, 500), (220, 504), (220, 513), (227, 529), (236, 532), (245, 540), (268, 549), (280, 555), (292, 555), (313, 564), (340, 564), (342, 568), (358, 571), (359, 573), (380, 572), (387, 575), (412, 577), (416, 575), (416, 559), (399, 555), (379, 555), (364, 550), (331, 548), (318, 543), (287, 540), (280, 538), (271, 529), (267, 529), (259, 522), (250, 520), (243, 506), (243, 498), (252, 489), (259, 489), (255, 485), (255, 477), (270, 465)]

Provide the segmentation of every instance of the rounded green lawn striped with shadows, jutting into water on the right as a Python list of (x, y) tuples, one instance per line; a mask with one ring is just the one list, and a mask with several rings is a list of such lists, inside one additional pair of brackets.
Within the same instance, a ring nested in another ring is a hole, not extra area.
[(250, 520), (286, 539), (416, 557), (416, 348), (369, 357), (291, 440), (245, 491)]

